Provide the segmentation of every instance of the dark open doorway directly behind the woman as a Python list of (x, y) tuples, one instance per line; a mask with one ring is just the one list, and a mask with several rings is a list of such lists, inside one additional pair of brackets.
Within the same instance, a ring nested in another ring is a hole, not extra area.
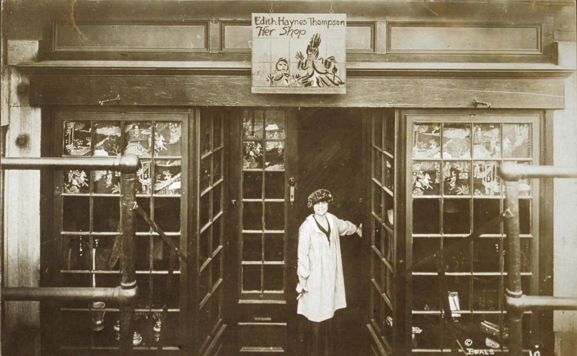
[[(334, 195), (329, 212), (355, 225), (364, 222), (366, 202), (363, 119), (358, 109), (301, 109), (298, 120), (298, 214), (299, 226), (312, 213), (306, 206), (308, 195), (325, 188)], [(364, 224), (366, 226), (366, 223)], [(339, 355), (369, 354), (366, 339), (368, 290), (368, 236), (342, 236), (347, 307), (335, 314), (334, 326)], [(366, 352), (365, 352), (366, 351)]]

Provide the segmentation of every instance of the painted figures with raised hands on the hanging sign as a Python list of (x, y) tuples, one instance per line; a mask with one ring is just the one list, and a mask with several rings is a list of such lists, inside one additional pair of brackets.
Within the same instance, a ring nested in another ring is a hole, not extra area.
[(339, 69), (334, 55), (327, 58), (319, 57), (321, 36), (314, 34), (306, 46), (306, 58), (301, 51), (295, 54), (297, 73), (291, 75), (288, 69), (288, 60), (280, 57), (276, 61), (275, 73), (267, 75), (271, 86), (285, 87), (338, 87), (344, 81), (336, 75)]

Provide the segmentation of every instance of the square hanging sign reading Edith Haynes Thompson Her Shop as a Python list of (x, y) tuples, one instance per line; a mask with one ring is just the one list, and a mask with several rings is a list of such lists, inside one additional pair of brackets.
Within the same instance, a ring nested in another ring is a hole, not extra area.
[(252, 92), (346, 93), (346, 14), (252, 14)]

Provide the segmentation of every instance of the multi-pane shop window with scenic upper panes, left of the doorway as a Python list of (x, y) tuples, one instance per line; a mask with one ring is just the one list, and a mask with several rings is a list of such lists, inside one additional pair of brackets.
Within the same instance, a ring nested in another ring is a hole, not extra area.
[[(57, 113), (57, 147), (60, 155), (91, 157), (136, 154), (137, 203), (178, 242), (186, 205), (182, 204), (182, 152), (186, 151), (186, 118), (182, 114)], [(57, 173), (58, 175), (58, 173)], [(69, 169), (57, 176), (57, 214), (62, 250), (61, 277), (66, 287), (115, 287), (119, 284), (120, 173), (112, 170)], [(59, 188), (61, 187), (61, 188)], [(164, 295), (168, 271), (168, 246), (137, 216), (136, 270), (140, 296), (137, 301), (138, 347), (155, 347), (153, 327), (160, 321), (168, 347), (177, 345), (179, 283)], [(180, 273), (179, 265), (175, 273)], [(178, 277), (175, 277), (178, 279)], [(167, 320), (162, 307), (168, 304)], [(104, 308), (102, 325), (94, 318)], [(103, 302), (67, 302), (61, 316), (62, 347), (117, 348), (117, 306)], [(76, 335), (74, 342), (68, 342)], [(88, 352), (88, 351), (87, 351)], [(84, 351), (83, 351), (84, 353)]]

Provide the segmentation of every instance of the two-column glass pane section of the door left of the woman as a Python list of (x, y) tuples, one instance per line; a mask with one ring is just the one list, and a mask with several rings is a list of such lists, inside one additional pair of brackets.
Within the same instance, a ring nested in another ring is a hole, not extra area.
[(244, 294), (284, 289), (286, 116), (245, 110), (242, 123), (241, 279)]

